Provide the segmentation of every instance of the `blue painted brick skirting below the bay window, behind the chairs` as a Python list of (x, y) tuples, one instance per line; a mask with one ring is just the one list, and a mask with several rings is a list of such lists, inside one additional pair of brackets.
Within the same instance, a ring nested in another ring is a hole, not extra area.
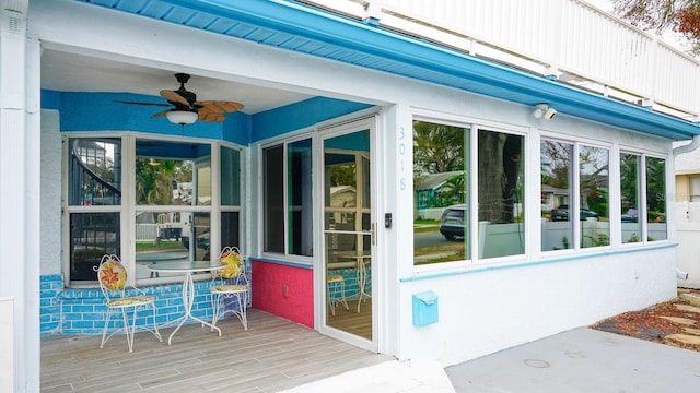
[[(210, 281), (195, 283), (192, 314), (203, 320), (211, 320), (212, 314), (210, 286)], [(159, 325), (174, 321), (185, 312), (182, 283), (144, 286), (139, 289), (155, 297)], [(135, 294), (135, 291), (127, 293), (127, 295)], [(65, 288), (62, 275), (42, 276), (39, 310), (42, 336), (102, 334), (106, 311), (107, 307), (100, 288)], [(139, 313), (136, 322), (137, 330), (143, 329), (139, 326), (147, 323), (149, 315), (148, 312)], [(112, 324), (121, 326), (121, 320), (112, 321)]]

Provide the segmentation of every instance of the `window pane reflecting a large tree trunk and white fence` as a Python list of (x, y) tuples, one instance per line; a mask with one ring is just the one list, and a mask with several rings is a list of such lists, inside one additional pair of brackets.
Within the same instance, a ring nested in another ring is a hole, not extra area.
[(524, 140), (479, 131), (479, 258), (525, 252)]

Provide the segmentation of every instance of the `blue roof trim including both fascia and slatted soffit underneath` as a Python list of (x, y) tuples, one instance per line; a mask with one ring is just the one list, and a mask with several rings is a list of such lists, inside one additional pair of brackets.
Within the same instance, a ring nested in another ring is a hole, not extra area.
[(672, 140), (696, 123), (285, 0), (75, 0)]

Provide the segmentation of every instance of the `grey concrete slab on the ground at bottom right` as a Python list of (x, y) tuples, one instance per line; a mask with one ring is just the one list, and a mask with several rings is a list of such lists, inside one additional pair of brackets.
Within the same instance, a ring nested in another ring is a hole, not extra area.
[(700, 353), (579, 327), (446, 369), (456, 392), (698, 392)]

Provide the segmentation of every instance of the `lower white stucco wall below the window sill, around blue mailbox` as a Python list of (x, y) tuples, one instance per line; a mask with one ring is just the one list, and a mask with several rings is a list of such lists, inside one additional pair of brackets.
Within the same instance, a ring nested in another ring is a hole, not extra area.
[[(401, 357), (454, 365), (672, 299), (675, 253), (667, 247), (405, 279)], [(412, 326), (411, 295), (422, 290), (438, 294), (440, 320)]]

